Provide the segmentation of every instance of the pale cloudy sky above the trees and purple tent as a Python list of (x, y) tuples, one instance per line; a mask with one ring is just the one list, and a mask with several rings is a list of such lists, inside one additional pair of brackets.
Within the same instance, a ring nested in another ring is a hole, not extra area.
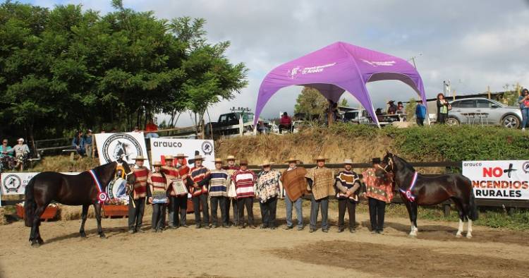
[[(82, 4), (107, 13), (110, 0), (26, 0), (52, 8)], [(428, 98), (450, 80), (456, 95), (503, 91), (520, 83), (529, 87), (529, 0), (512, 1), (253, 1), (123, 0), (137, 11), (154, 11), (158, 18), (205, 18), (209, 42), (229, 40), (226, 53), (233, 64), (249, 68), (248, 87), (235, 99), (209, 109), (212, 121), (230, 107), (255, 110), (265, 75), (276, 66), (334, 42), (377, 50), (415, 64)], [(415, 91), (396, 80), (368, 83), (375, 107), (388, 99), (407, 101)], [(302, 87), (286, 87), (270, 99), (265, 119), (292, 114)], [(358, 102), (346, 92), (353, 107)], [(159, 121), (164, 116), (159, 117)], [(208, 121), (208, 119), (206, 119)], [(188, 126), (182, 115), (178, 126)]]

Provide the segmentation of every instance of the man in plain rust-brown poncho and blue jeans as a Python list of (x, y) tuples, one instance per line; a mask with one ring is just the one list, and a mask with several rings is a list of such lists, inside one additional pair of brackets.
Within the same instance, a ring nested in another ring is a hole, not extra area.
[(298, 231), (303, 230), (303, 211), (302, 202), (303, 195), (307, 192), (307, 181), (305, 175), (307, 170), (303, 167), (298, 167), (298, 159), (289, 158), (288, 169), (281, 174), (281, 183), (286, 193), (286, 230), (292, 229), (294, 224), (292, 222), (292, 207), (296, 207), (296, 216), (298, 217)]

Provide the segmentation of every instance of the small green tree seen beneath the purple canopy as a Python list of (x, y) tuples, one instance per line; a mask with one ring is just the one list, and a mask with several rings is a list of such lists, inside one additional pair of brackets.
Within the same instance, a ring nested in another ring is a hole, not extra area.
[(329, 102), (327, 102), (327, 98), (320, 91), (312, 87), (303, 87), (303, 90), (301, 90), (300, 95), (296, 99), (294, 113), (305, 114), (307, 119), (312, 119), (312, 116), (318, 116), (322, 119), (328, 107)]

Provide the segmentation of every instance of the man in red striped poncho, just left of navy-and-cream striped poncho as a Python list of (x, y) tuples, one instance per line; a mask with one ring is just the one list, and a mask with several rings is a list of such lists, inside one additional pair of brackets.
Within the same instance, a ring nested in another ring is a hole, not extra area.
[[(195, 225), (197, 229), (204, 226), (209, 229), (209, 208), (207, 207), (207, 182), (209, 180), (209, 169), (202, 166), (204, 157), (195, 155), (195, 167), (190, 170), (190, 177), (193, 184), (189, 188), (189, 193), (193, 195), (193, 210), (195, 210)], [(200, 219), (200, 205), (202, 205), (202, 217)]]

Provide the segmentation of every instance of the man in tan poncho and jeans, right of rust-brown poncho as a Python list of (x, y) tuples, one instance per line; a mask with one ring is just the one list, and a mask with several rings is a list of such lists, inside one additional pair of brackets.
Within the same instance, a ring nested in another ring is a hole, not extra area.
[(329, 196), (334, 195), (334, 172), (325, 167), (326, 158), (319, 156), (316, 159), (317, 166), (309, 169), (305, 178), (307, 179), (312, 198), (310, 199), (310, 230), (316, 231), (316, 222), (320, 206), (322, 207), (322, 231), (329, 231), (327, 217), (329, 213)]

